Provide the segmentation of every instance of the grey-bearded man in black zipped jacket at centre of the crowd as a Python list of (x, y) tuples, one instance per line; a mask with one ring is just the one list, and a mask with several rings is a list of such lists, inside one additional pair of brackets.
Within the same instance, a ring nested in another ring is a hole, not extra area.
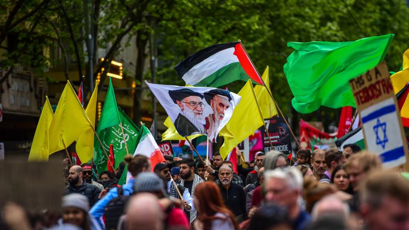
[(247, 219), (246, 212), (246, 195), (244, 194), (243, 186), (231, 183), (233, 177), (232, 169), (223, 164), (219, 168), (219, 189), (222, 194), (224, 204), (236, 216), (238, 223)]

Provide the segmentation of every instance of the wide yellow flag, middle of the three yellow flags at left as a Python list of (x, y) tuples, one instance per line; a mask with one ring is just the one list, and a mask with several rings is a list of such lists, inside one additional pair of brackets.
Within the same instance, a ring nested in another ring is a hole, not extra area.
[(49, 126), (49, 153), (63, 150), (89, 129), (92, 129), (92, 123), (70, 82), (67, 81), (58, 101), (54, 119)]

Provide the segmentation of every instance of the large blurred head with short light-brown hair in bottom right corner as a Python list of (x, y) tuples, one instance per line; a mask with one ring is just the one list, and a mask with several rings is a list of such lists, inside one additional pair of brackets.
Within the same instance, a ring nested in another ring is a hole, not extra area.
[(362, 184), (360, 195), (368, 229), (409, 229), (409, 182), (398, 172), (374, 172)]

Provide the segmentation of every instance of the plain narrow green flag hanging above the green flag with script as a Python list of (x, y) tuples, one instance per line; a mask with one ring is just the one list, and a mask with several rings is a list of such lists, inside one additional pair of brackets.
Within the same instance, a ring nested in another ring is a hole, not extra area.
[(107, 95), (105, 96), (104, 107), (101, 112), (101, 118), (98, 122), (98, 127), (96, 132), (106, 128), (118, 125), (121, 123), (121, 118), (119, 117), (117, 100), (115, 98), (114, 87), (112, 86), (112, 81), (110, 77), (110, 86), (108, 87)]

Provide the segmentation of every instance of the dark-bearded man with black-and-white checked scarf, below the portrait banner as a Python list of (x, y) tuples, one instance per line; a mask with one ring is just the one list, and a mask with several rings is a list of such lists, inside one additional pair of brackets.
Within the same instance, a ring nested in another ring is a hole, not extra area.
[[(203, 179), (194, 174), (194, 161), (192, 159), (183, 159), (180, 161), (180, 177), (182, 178), (182, 180), (180, 180), (180, 185), (185, 187), (193, 198), (196, 186), (202, 183)], [(190, 219), (190, 223), (196, 219), (196, 210), (193, 210), (192, 212), (185, 211), (185, 213)]]

